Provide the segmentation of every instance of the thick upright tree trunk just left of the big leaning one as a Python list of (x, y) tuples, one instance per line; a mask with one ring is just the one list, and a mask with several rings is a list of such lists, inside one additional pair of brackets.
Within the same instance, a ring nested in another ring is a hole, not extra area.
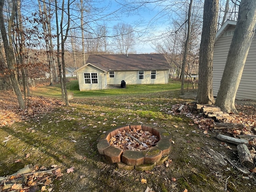
[(198, 102), (214, 103), (212, 91), (212, 60), (217, 32), (219, 0), (204, 1), (202, 37), (199, 53)]

